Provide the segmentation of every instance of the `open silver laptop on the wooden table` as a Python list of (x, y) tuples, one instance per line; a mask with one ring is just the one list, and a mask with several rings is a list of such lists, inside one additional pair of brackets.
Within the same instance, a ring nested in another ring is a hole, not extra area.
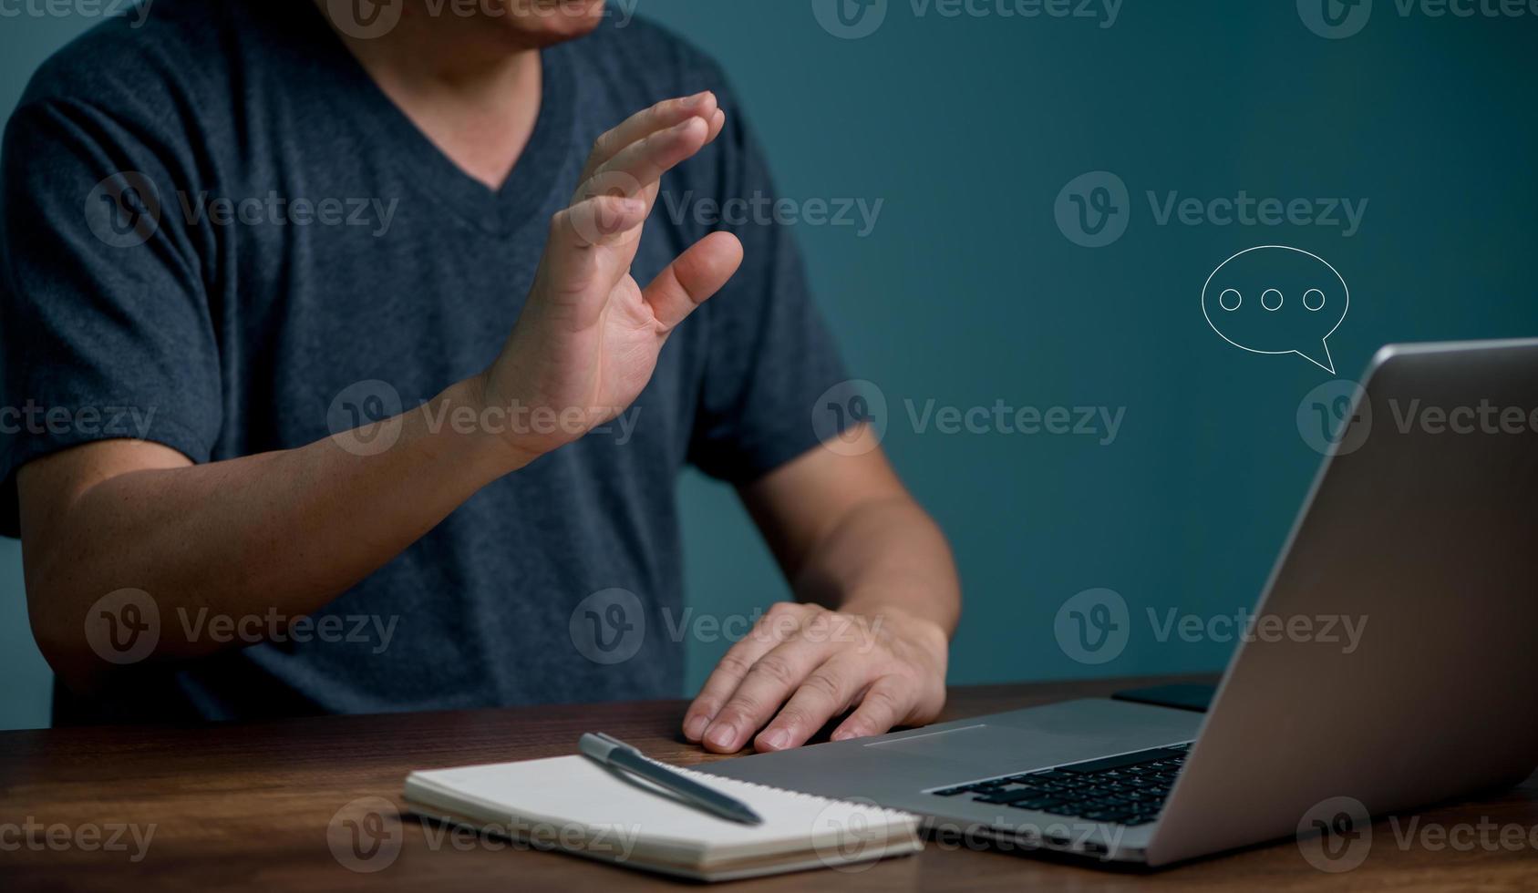
[(1246, 636), (1206, 713), (1077, 699), (704, 772), (874, 801), (1007, 848), (1144, 865), (1526, 779), (1538, 765), (1538, 340), (1387, 346), (1341, 418), (1255, 615), (1315, 630), (1353, 618), (1355, 649), (1338, 635)]

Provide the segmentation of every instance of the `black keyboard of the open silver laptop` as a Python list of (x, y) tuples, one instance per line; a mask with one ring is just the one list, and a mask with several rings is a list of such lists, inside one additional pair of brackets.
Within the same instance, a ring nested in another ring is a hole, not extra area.
[(1146, 825), (1164, 808), (1164, 798), (1169, 796), (1189, 750), (1187, 741), (1041, 772), (1003, 775), (930, 793), (970, 795), (978, 802), (1092, 822)]

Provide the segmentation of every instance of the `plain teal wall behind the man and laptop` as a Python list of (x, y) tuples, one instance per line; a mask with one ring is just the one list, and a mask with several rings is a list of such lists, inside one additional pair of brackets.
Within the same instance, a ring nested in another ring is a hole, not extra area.
[[(947, 17), (938, 0), (891, 0), (875, 32), (844, 40), (814, 6), (640, 0), (638, 12), (723, 61), (783, 195), (883, 203), (867, 235), (798, 235), (852, 372), (886, 397), (886, 449), (955, 546), (954, 682), (1223, 666), (1232, 641), (1158, 641), (1140, 618), (1253, 603), (1320, 461), (1300, 400), (1332, 378), (1207, 327), (1201, 286), (1229, 255), (1289, 244), (1341, 272), (1343, 377), (1387, 341), (1538, 334), (1533, 17), (1401, 15), (1378, 0), (1360, 32), (1329, 40), (1304, 26), (1307, 2), (1126, 0), (1103, 28), (998, 14), (1012, 3)], [(92, 22), (0, 18), (0, 114)], [(1090, 171), (1130, 198), (1104, 247), (1054, 218), (1058, 192)], [(1149, 191), (1367, 204), (1347, 237), (1160, 224)], [(1126, 415), (1106, 446), (917, 430), (906, 401), (929, 400)], [(749, 615), (786, 596), (729, 490), (689, 476), (681, 498), (697, 610)], [(1054, 618), (1092, 587), (1121, 593), (1132, 635), (1089, 666), (1060, 647)], [(691, 642), (691, 684), (724, 647)], [(14, 543), (0, 544), (0, 727), (45, 724)]]

